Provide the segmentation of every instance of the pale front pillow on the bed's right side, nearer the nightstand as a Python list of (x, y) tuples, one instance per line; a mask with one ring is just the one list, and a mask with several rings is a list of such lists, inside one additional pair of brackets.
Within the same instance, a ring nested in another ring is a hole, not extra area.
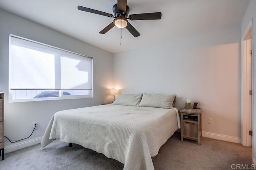
[(162, 95), (162, 94), (146, 94), (144, 93), (139, 106), (146, 107), (160, 107), (170, 109), (175, 98), (175, 94)]

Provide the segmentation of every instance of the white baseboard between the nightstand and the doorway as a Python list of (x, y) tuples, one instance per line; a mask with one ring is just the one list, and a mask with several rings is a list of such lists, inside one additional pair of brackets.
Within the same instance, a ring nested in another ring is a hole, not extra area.
[(232, 136), (228, 136), (228, 135), (222, 135), (222, 134), (205, 132), (205, 131), (202, 131), (202, 137), (208, 137), (208, 138), (212, 138), (212, 139), (218, 139), (221, 141), (228, 141), (228, 142), (233, 142), (233, 143), (241, 143), (240, 137), (232, 137)]

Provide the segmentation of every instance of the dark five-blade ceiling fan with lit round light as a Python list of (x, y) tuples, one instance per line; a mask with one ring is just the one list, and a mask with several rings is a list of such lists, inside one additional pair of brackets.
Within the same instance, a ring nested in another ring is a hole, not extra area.
[(93, 10), (90, 8), (86, 8), (83, 6), (78, 6), (78, 10), (90, 12), (102, 16), (107, 16), (110, 18), (115, 18), (112, 23), (110, 23), (108, 26), (106, 26), (104, 29), (100, 31), (101, 34), (104, 34), (108, 32), (112, 27), (117, 26), (118, 28), (124, 28), (128, 29), (130, 33), (134, 37), (140, 36), (140, 33), (127, 21), (129, 20), (160, 20), (162, 17), (161, 12), (153, 12), (153, 13), (145, 13), (145, 14), (132, 14), (128, 18), (128, 14), (130, 11), (130, 8), (127, 6), (127, 0), (117, 0), (117, 4), (114, 4), (113, 6), (113, 12), (114, 15), (108, 14), (106, 12)]

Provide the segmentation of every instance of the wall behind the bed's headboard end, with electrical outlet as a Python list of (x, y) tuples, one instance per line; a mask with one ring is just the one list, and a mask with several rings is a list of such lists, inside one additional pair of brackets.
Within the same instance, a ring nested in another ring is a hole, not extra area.
[[(201, 102), (203, 136), (240, 143), (240, 25), (114, 54), (122, 93), (176, 93)], [(208, 118), (213, 124), (208, 124)]]

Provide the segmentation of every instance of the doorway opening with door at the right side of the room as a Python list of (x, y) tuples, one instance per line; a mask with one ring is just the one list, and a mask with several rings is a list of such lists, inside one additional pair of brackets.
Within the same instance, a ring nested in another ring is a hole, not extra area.
[(241, 92), (241, 143), (252, 147), (252, 80), (253, 80), (253, 56), (252, 56), (252, 25), (242, 38), (242, 92)]

